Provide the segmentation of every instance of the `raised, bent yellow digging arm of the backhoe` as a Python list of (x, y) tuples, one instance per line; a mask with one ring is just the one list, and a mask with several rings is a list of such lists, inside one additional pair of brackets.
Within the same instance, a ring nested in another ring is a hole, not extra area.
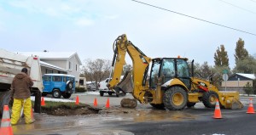
[[(113, 62), (112, 70), (109, 78), (112, 78), (108, 82), (108, 88), (119, 92), (120, 90), (124, 93), (132, 93), (133, 97), (143, 103), (143, 83), (146, 81), (148, 73), (148, 65), (151, 59), (147, 57), (139, 48), (127, 40), (126, 35), (119, 36), (113, 42)], [(123, 66), (125, 65), (125, 54), (128, 53), (132, 60), (132, 71), (124, 76), (120, 82), (120, 76), (123, 72)], [(131, 82), (129, 81), (131, 80)], [(125, 85), (130, 87), (125, 87)]]

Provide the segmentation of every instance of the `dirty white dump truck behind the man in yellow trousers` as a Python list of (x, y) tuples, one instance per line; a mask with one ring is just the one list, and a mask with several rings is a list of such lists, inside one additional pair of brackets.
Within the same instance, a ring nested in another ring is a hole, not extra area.
[(10, 101), (10, 86), (16, 74), (26, 67), (27, 73), (31, 76), (34, 85), (31, 92), (35, 95), (34, 111), (41, 112), (41, 93), (43, 92), (42, 73), (38, 56), (24, 56), (19, 53), (12, 53), (0, 48), (0, 114), (2, 116), (3, 105), (12, 107)]

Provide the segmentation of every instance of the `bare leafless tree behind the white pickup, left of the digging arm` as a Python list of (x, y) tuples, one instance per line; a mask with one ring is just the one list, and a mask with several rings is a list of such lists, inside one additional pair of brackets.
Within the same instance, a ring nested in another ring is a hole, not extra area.
[(108, 59), (85, 59), (82, 71), (88, 81), (96, 82), (97, 84), (109, 76), (110, 67), (111, 61)]

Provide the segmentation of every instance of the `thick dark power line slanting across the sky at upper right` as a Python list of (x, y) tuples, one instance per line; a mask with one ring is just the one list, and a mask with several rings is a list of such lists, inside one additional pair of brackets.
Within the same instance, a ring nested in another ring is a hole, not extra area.
[(176, 11), (172, 11), (172, 10), (169, 10), (169, 9), (166, 9), (166, 8), (160, 8), (160, 7), (154, 6), (154, 5), (149, 4), (149, 3), (139, 2), (139, 1), (137, 1), (137, 0), (131, 0), (131, 1), (136, 2), (136, 3), (142, 3), (142, 4), (147, 5), (147, 6), (149, 6), (149, 7), (159, 8), (159, 9), (161, 9), (161, 10), (165, 10), (165, 11), (167, 11), (167, 12), (172, 12), (172, 13), (174, 13), (174, 14), (183, 15), (183, 16), (186, 16), (186, 17), (195, 19), (195, 20), (201, 20), (201, 21), (207, 22), (207, 23), (212, 24), (212, 25), (218, 25), (218, 26), (222, 26), (222, 27), (224, 27), (224, 28), (228, 28), (228, 29), (231, 29), (231, 30), (234, 30), (234, 31), (240, 31), (240, 32), (243, 32), (243, 33), (247, 33), (247, 34), (256, 36), (256, 34), (251, 33), (251, 32), (242, 31), (242, 30), (239, 30), (239, 29), (236, 29), (236, 28), (232, 28), (232, 27), (226, 26), (226, 25), (220, 25), (220, 24), (218, 24), (218, 23), (214, 23), (214, 22), (208, 21), (208, 20), (202, 20), (202, 19), (196, 18), (196, 17), (194, 17), (194, 16), (190, 16), (190, 15), (187, 15), (187, 14), (178, 13), (178, 12), (176, 12)]

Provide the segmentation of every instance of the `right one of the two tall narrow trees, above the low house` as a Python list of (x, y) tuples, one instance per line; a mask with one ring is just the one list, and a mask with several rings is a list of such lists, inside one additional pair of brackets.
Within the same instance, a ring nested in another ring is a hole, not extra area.
[(239, 61), (243, 60), (243, 59), (247, 59), (247, 57), (249, 56), (247, 49), (244, 48), (244, 41), (239, 38), (239, 40), (236, 42), (236, 49), (235, 49), (235, 60), (236, 60), (236, 65)]

